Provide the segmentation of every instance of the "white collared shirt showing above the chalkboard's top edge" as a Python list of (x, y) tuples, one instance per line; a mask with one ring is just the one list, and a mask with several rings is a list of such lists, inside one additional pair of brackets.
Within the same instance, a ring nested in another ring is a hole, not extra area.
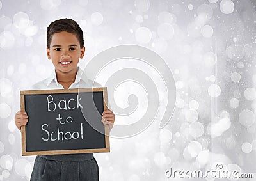
[[(83, 70), (78, 67), (76, 79), (69, 87), (71, 88), (98, 88), (101, 85), (95, 81), (92, 81), (86, 77)], [(63, 86), (58, 83), (55, 70), (52, 72), (51, 76), (44, 79), (32, 86), (33, 90), (52, 90), (52, 89), (64, 89)]]

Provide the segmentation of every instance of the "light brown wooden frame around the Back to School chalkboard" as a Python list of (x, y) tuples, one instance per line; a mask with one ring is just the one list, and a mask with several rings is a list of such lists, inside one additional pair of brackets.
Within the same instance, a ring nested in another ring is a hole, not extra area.
[[(103, 106), (104, 111), (108, 109), (108, 93), (107, 88), (74, 88), (67, 90), (26, 90), (20, 91), (20, 110), (25, 111), (25, 95), (40, 95), (48, 93), (82, 93), (82, 92), (99, 92), (103, 93)], [(21, 127), (21, 138), (22, 138), (22, 156), (24, 155), (62, 155), (62, 154), (76, 154), (76, 153), (100, 153), (110, 152), (109, 145), (109, 125), (104, 126), (105, 130), (105, 146), (106, 148), (95, 148), (95, 149), (81, 149), (81, 150), (49, 150), (49, 151), (26, 151), (26, 126)]]

